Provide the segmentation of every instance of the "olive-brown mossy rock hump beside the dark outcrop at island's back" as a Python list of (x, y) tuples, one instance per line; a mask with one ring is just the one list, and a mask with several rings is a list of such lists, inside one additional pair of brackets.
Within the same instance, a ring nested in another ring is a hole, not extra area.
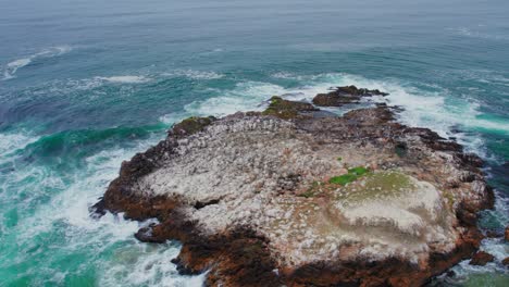
[(300, 112), (318, 111), (311, 103), (288, 101), (281, 97), (274, 96), (271, 98), (271, 103), (263, 115), (274, 115), (283, 120), (290, 120), (300, 116)]

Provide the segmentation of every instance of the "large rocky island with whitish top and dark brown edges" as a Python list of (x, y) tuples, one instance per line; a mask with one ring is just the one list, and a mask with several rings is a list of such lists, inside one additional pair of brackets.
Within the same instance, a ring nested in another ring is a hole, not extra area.
[(482, 160), (385, 104), (339, 87), (313, 104), (190, 117), (122, 164), (96, 214), (157, 219), (139, 240), (183, 244), (179, 272), (208, 286), (420, 286), (483, 238), (493, 207)]

